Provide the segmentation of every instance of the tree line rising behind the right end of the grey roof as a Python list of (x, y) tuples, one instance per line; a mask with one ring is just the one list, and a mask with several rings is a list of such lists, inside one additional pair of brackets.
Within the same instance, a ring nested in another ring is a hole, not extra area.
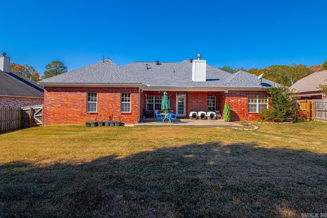
[(311, 67), (307, 67), (305, 64), (291, 64), (291, 65), (272, 65), (263, 69), (260, 68), (244, 69), (243, 67), (230, 68), (229, 66), (224, 66), (221, 67), (220, 69), (230, 72), (231, 74), (239, 70), (244, 70), (249, 72), (250, 74), (254, 74), (257, 76), (264, 74), (265, 79), (290, 87), (296, 81), (309, 76), (313, 72), (327, 69), (327, 61), (323, 62), (322, 65), (314, 65)]

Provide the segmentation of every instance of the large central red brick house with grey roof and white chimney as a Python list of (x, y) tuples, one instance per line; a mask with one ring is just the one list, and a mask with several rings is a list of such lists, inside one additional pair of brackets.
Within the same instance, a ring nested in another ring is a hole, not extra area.
[(122, 67), (105, 59), (45, 79), (40, 82), (44, 125), (82, 125), (88, 119), (136, 124), (161, 108), (164, 91), (179, 117), (189, 117), (191, 111), (222, 111), (229, 104), (231, 121), (253, 120), (268, 107), (267, 89), (273, 82), (242, 70), (230, 74), (200, 57)]

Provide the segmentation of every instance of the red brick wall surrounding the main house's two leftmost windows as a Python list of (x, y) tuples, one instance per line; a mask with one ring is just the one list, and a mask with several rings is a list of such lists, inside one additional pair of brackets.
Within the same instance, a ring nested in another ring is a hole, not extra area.
[[(87, 93), (97, 92), (97, 113), (87, 113)], [(131, 93), (131, 113), (121, 113), (121, 93)], [(44, 126), (83, 125), (87, 121), (121, 120), (138, 122), (138, 88), (45, 87)]]

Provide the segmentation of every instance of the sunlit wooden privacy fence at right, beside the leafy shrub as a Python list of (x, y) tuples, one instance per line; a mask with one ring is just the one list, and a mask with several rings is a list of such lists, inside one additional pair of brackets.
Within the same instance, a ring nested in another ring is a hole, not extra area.
[(327, 100), (297, 100), (297, 120), (327, 120)]

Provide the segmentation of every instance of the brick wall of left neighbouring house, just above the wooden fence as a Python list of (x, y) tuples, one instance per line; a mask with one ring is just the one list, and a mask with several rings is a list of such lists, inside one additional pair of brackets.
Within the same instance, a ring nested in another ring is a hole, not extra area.
[(27, 107), (43, 104), (43, 99), (17, 98), (17, 97), (0, 97), (0, 108), (7, 107)]

